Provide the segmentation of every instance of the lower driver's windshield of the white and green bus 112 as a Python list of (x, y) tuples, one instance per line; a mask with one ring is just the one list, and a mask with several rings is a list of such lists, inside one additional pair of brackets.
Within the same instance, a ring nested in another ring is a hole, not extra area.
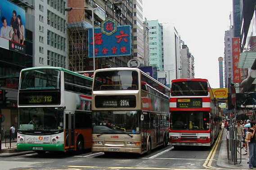
[(57, 131), (63, 129), (63, 109), (32, 107), (19, 109), (19, 130)]

